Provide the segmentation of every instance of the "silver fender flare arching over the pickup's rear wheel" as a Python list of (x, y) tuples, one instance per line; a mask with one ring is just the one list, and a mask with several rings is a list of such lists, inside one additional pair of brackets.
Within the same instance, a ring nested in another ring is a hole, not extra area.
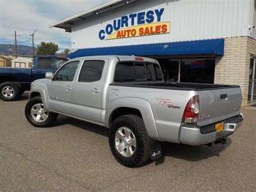
[(110, 118), (113, 112), (115, 112), (118, 108), (138, 109), (143, 118), (143, 122), (147, 129), (148, 136), (153, 140), (161, 141), (161, 138), (159, 137), (159, 134), (157, 132), (154, 113), (152, 111), (150, 103), (147, 100), (137, 97), (122, 97), (113, 100), (113, 102), (110, 102), (109, 106), (107, 106), (105, 117), (105, 122), (107, 123), (108, 127), (110, 127)]

